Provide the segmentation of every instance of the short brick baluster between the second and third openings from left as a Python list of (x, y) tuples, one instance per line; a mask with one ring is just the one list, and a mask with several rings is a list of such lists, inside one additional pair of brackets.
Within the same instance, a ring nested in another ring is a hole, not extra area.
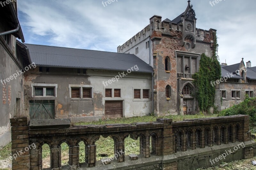
[(70, 169), (79, 168), (79, 146), (69, 147), (69, 167)]

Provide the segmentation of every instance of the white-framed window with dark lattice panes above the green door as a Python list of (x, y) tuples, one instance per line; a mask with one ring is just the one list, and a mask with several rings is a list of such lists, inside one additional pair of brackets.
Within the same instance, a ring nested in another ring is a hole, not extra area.
[(32, 97), (57, 97), (57, 84), (31, 83)]

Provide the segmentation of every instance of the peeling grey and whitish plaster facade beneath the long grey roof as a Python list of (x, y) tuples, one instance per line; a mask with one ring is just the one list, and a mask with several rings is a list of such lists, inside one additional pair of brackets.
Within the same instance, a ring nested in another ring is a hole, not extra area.
[[(124, 116), (142, 116), (152, 112), (152, 101), (133, 101), (133, 88), (152, 90), (151, 73), (130, 73), (111, 84), (103, 81), (119, 75), (122, 71), (86, 70), (86, 75), (77, 74), (77, 69), (50, 68), (50, 72), (39, 72), (38, 68), (25, 75), (25, 113), (29, 115), (29, 100), (55, 100), (55, 118), (69, 116), (104, 116), (105, 100), (124, 100)], [(83, 73), (83, 70), (81, 70)], [(57, 97), (32, 97), (31, 83), (58, 84)], [(71, 99), (69, 86), (90, 85), (92, 99)], [(105, 98), (105, 88), (121, 89), (121, 98)], [(152, 91), (151, 91), (152, 92)], [(151, 93), (150, 92), (150, 93)], [(74, 109), (77, 114), (74, 114)], [(72, 113), (73, 112), (73, 113)]]

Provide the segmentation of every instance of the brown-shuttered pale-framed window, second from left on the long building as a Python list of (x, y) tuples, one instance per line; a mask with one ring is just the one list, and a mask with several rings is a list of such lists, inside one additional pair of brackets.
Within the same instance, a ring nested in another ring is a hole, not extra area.
[(69, 85), (71, 99), (92, 99), (92, 85)]

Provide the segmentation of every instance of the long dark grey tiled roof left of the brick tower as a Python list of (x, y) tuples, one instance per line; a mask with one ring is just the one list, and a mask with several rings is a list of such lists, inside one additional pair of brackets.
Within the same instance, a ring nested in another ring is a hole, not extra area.
[(137, 65), (139, 68), (137, 72), (153, 72), (150, 65), (133, 54), (36, 44), (24, 45), (28, 47), (31, 62), (38, 66), (125, 71)]

